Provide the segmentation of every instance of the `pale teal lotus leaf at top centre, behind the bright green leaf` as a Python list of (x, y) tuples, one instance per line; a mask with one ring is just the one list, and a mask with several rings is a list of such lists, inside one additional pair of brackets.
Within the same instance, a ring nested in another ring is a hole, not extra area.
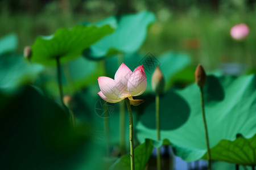
[(147, 36), (147, 28), (155, 22), (151, 12), (142, 11), (138, 14), (111, 16), (96, 25), (109, 23), (116, 26), (114, 33), (104, 37), (90, 46), (86, 56), (101, 58), (117, 52), (134, 53), (142, 45)]

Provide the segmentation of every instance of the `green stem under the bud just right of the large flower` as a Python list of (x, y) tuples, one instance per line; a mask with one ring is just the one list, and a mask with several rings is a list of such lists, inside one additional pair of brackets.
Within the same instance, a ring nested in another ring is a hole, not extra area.
[[(156, 120), (156, 135), (160, 141), (160, 113), (159, 113), (159, 95), (155, 96), (155, 120)], [(161, 169), (160, 147), (157, 148), (157, 165), (158, 170)]]

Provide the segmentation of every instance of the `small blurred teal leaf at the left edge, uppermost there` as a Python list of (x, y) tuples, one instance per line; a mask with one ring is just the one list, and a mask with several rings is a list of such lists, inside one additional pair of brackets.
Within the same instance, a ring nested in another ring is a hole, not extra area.
[(18, 44), (17, 36), (14, 33), (0, 39), (0, 55), (6, 52), (13, 52)]

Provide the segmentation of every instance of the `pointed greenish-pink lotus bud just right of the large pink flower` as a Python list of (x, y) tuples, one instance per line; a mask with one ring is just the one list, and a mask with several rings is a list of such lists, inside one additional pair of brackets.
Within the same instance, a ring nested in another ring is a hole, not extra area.
[(162, 94), (164, 92), (164, 76), (159, 66), (156, 66), (155, 71), (151, 78), (152, 90), (156, 94)]

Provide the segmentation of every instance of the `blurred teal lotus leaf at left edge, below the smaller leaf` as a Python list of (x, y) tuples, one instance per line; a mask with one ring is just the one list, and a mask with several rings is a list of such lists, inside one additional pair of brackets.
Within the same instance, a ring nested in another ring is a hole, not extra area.
[(13, 90), (31, 82), (43, 69), (42, 65), (24, 61), (20, 54), (4, 54), (0, 56), (0, 90)]

